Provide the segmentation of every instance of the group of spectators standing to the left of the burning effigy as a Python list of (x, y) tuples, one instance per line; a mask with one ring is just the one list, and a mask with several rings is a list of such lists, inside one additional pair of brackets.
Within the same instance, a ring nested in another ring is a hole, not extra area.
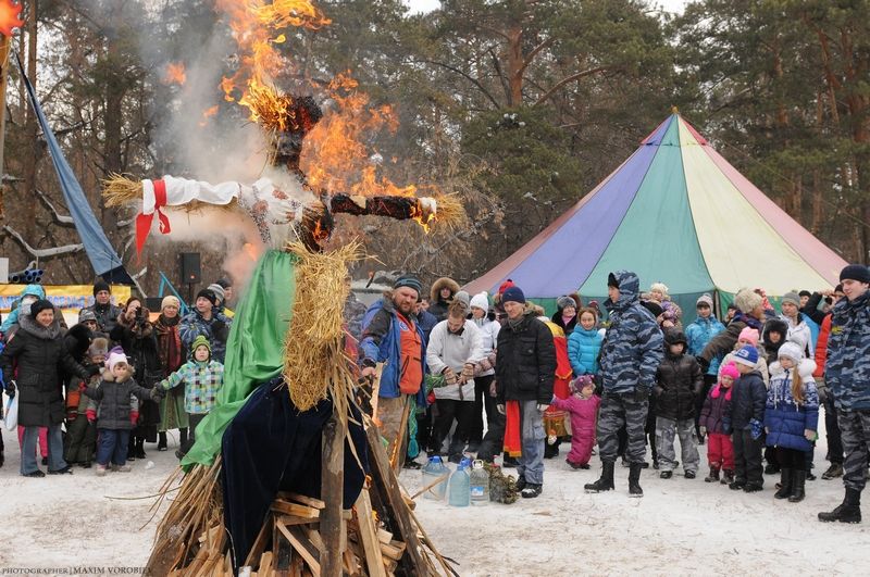
[[(221, 279), (199, 291), (187, 314), (175, 296), (152, 314), (138, 297), (115, 304), (111, 287), (98, 281), (94, 304), (67, 329), (44, 288), (25, 287), (0, 326), (2, 385), (17, 401), (21, 475), (72, 474), (95, 462), (98, 476), (128, 472), (128, 461), (146, 457), (146, 442), (166, 451), (171, 430), (183, 457), (223, 385), (232, 297), (232, 284)], [(0, 438), (0, 466), (3, 449)]]

